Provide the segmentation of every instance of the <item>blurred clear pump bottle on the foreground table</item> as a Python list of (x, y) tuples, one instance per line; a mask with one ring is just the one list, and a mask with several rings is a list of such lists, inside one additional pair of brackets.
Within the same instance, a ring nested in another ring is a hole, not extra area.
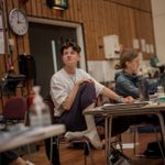
[(44, 103), (40, 95), (41, 88), (33, 87), (34, 99), (30, 108), (30, 123), (31, 127), (44, 127), (51, 124), (51, 113), (48, 107)]

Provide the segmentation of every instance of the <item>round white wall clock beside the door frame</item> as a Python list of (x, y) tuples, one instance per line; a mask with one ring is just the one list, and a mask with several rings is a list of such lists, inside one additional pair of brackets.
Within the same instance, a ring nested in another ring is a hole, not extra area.
[(18, 35), (24, 35), (29, 30), (29, 21), (25, 13), (20, 9), (13, 9), (9, 13), (9, 25)]

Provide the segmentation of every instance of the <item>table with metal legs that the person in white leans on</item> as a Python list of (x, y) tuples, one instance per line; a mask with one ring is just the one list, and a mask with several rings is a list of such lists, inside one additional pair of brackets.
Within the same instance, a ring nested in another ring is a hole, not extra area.
[(165, 123), (162, 116), (162, 111), (165, 111), (165, 105), (151, 103), (146, 102), (133, 103), (133, 105), (107, 105), (102, 107), (96, 107), (94, 109), (86, 110), (84, 114), (101, 114), (106, 119), (106, 164), (111, 164), (109, 157), (111, 155), (111, 128), (112, 128), (112, 118), (121, 116), (141, 116), (141, 114), (155, 114), (160, 120), (160, 127), (162, 130), (163, 144), (165, 148)]

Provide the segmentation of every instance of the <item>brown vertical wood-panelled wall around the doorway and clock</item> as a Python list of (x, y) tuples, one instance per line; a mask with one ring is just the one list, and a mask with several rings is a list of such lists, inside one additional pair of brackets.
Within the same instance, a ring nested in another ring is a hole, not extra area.
[[(23, 0), (4, 1), (7, 13), (13, 8), (21, 8), (28, 16), (81, 23), (88, 61), (105, 59), (103, 35), (119, 35), (125, 47), (132, 46), (133, 38), (145, 38), (146, 43), (154, 44), (151, 0), (68, 0), (66, 11), (50, 9), (46, 0), (26, 0), (25, 3), (21, 3)], [(15, 36), (9, 28), (8, 33), (15, 43), (12, 61), (19, 54), (31, 53), (29, 34)], [(150, 54), (145, 54), (145, 58), (150, 58)], [(0, 76), (6, 73), (6, 63), (4, 56), (0, 55)], [(18, 64), (14, 65), (18, 68)]]

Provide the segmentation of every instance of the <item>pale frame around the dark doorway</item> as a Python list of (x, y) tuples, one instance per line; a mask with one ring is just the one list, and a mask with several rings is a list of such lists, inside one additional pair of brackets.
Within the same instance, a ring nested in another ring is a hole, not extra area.
[(32, 16), (28, 16), (28, 20), (29, 20), (29, 22), (41, 23), (41, 24), (51, 24), (51, 25), (58, 25), (58, 26), (66, 26), (66, 28), (75, 28), (76, 29), (77, 43), (81, 47), (79, 66), (84, 70), (87, 70), (82, 24), (80, 24), (80, 23), (73, 23), (73, 22), (66, 22), (66, 21), (57, 21), (57, 20), (48, 20), (48, 19), (41, 19), (41, 18), (32, 18)]

